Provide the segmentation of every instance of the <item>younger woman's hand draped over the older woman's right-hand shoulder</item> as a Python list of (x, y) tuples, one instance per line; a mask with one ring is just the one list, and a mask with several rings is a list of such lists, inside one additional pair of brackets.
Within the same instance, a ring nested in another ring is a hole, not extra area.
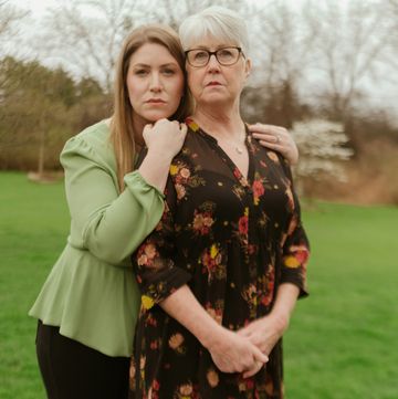
[(281, 126), (255, 124), (249, 125), (249, 130), (253, 137), (259, 139), (264, 147), (281, 153), (291, 165), (298, 161), (298, 149), (292, 135)]

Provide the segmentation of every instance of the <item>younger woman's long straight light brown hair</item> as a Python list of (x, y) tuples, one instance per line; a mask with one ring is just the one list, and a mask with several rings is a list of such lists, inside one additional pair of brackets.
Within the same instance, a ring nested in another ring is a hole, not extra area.
[(184, 97), (170, 119), (184, 120), (192, 112), (192, 97), (187, 85), (185, 71), (185, 54), (178, 34), (171, 28), (161, 24), (148, 24), (133, 30), (124, 42), (116, 65), (114, 113), (111, 120), (111, 143), (114, 146), (121, 191), (125, 188), (124, 176), (133, 170), (136, 153), (133, 107), (128, 98), (126, 84), (127, 71), (132, 55), (146, 43), (157, 43), (165, 46), (184, 73)]

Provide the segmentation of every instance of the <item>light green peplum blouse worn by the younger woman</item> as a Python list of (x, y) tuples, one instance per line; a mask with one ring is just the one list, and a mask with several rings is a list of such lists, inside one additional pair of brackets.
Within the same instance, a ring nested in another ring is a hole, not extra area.
[(71, 232), (29, 315), (105, 355), (130, 356), (140, 298), (129, 255), (159, 222), (164, 195), (138, 171), (119, 192), (105, 122), (72, 137), (61, 164)]

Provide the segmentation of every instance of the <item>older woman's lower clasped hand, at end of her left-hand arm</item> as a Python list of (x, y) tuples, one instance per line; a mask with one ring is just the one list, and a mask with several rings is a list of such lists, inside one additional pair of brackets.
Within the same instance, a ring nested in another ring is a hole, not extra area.
[(221, 328), (207, 346), (216, 366), (223, 372), (244, 371), (244, 378), (256, 374), (268, 361), (268, 356), (243, 335)]

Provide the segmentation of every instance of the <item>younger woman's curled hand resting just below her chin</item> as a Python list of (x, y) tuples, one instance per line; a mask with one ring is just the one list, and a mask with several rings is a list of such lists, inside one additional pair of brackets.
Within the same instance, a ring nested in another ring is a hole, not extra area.
[(177, 120), (159, 119), (144, 127), (143, 137), (148, 153), (172, 159), (181, 149), (187, 135), (187, 125)]

